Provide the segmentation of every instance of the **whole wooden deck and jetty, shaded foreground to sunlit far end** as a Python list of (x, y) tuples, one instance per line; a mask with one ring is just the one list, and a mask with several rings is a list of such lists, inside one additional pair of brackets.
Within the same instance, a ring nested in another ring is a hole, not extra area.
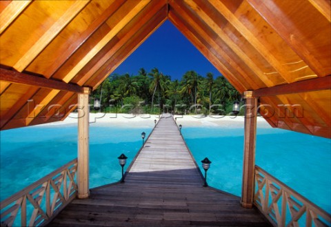
[(171, 117), (159, 121), (125, 180), (75, 199), (50, 226), (270, 226), (239, 197), (202, 186)]

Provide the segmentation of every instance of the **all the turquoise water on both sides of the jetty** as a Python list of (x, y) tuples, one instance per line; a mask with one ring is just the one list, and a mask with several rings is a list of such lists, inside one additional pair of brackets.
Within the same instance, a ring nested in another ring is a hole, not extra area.
[[(121, 179), (117, 157), (129, 166), (152, 128), (90, 127), (90, 188)], [(258, 129), (257, 165), (331, 212), (331, 140), (279, 129)], [(241, 195), (242, 128), (183, 127), (197, 163), (208, 157), (208, 184)], [(0, 132), (0, 199), (3, 200), (77, 157), (77, 125), (33, 126)]]

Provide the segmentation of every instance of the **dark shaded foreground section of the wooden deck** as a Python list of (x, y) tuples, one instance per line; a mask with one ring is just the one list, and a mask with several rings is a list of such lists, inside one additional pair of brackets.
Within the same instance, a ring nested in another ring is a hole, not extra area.
[(271, 226), (239, 197), (192, 181), (192, 171), (129, 172), (126, 183), (72, 201), (49, 226)]

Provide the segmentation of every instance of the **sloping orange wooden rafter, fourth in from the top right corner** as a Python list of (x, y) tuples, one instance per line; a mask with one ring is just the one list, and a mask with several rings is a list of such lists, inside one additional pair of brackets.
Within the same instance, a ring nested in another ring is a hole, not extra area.
[(188, 6), (190, 6), (199, 14), (199, 17), (201, 17), (201, 19), (205, 21), (205, 23), (207, 23), (214, 30), (214, 32), (219, 35), (220, 39), (222, 39), (224, 43), (226, 43), (253, 72), (259, 75), (259, 78), (263, 81), (263, 83), (265, 83), (268, 87), (274, 86), (274, 83), (270, 81), (268, 76), (262, 72), (256, 63), (254, 63), (252, 58), (243, 52), (237, 43), (234, 43), (234, 41), (232, 41), (232, 39), (230, 39), (230, 37), (225, 34), (225, 32), (218, 26), (217, 23), (215, 23), (215, 21), (208, 13), (204, 12), (194, 1), (188, 0), (185, 1), (185, 3), (188, 3)]

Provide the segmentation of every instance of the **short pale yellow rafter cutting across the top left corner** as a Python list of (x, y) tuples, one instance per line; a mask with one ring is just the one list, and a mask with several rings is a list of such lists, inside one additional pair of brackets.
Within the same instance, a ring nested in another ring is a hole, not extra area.
[(32, 1), (11, 1), (9, 5), (0, 14), (0, 34), (10, 23), (16, 19), (21, 12), (26, 9)]

